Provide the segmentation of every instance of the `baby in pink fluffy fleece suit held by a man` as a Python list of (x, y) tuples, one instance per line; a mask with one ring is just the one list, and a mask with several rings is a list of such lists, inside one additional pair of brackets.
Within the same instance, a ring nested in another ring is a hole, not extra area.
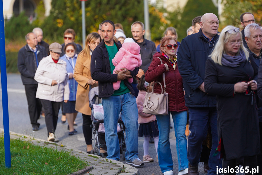
[[(140, 46), (134, 42), (132, 38), (127, 38), (124, 40), (122, 47), (119, 49), (115, 57), (112, 59), (112, 63), (115, 66), (115, 70), (121, 71), (120, 68), (126, 68), (129, 71), (133, 71), (135, 68), (138, 68), (142, 65)], [(119, 89), (120, 80), (113, 82), (114, 90)], [(133, 78), (128, 78), (128, 82), (132, 83)]]

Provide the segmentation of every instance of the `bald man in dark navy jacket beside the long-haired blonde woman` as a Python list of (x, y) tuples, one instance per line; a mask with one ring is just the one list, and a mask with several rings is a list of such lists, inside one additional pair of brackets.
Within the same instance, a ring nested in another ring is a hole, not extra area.
[(206, 94), (204, 89), (206, 60), (219, 38), (218, 23), (218, 18), (213, 13), (204, 14), (199, 33), (185, 37), (178, 50), (178, 68), (183, 78), (185, 106), (189, 108), (189, 175), (199, 175), (202, 141), (206, 139), (209, 124), (213, 145), (209, 156), (208, 174), (216, 174), (217, 166), (222, 167), (221, 160), (213, 157), (218, 146), (216, 96)]

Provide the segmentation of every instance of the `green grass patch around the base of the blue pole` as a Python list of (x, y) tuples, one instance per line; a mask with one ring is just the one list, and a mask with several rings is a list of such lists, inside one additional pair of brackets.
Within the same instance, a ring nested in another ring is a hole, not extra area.
[(11, 168), (6, 169), (4, 138), (0, 135), (1, 175), (65, 175), (88, 166), (86, 161), (56, 148), (36, 146), (20, 139), (11, 139), (10, 145)]

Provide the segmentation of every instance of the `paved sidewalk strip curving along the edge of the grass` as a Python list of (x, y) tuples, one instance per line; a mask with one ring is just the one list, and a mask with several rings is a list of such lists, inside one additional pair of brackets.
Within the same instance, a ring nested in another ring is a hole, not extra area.
[[(1, 134), (3, 134), (4, 129), (0, 128)], [(124, 164), (122, 162), (105, 159), (97, 155), (87, 154), (86, 152), (82, 152), (78, 149), (74, 149), (72, 147), (64, 145), (63, 147), (55, 142), (48, 142), (43, 139), (33, 138), (33, 135), (23, 135), (10, 131), (10, 139), (23, 137), (31, 138), (32, 143), (35, 145), (48, 145), (49, 147), (54, 147), (58, 150), (66, 150), (71, 152), (73, 156), (80, 157), (80, 159), (87, 160), (87, 163), (90, 165), (83, 170), (79, 170), (75, 173), (71, 173), (71, 175), (140, 175), (138, 169), (133, 166)]]

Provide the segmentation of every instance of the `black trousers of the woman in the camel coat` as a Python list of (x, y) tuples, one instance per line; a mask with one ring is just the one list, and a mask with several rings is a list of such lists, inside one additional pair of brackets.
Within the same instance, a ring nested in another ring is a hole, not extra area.
[(87, 145), (92, 145), (92, 121), (90, 115), (82, 114), (83, 116), (83, 134)]

